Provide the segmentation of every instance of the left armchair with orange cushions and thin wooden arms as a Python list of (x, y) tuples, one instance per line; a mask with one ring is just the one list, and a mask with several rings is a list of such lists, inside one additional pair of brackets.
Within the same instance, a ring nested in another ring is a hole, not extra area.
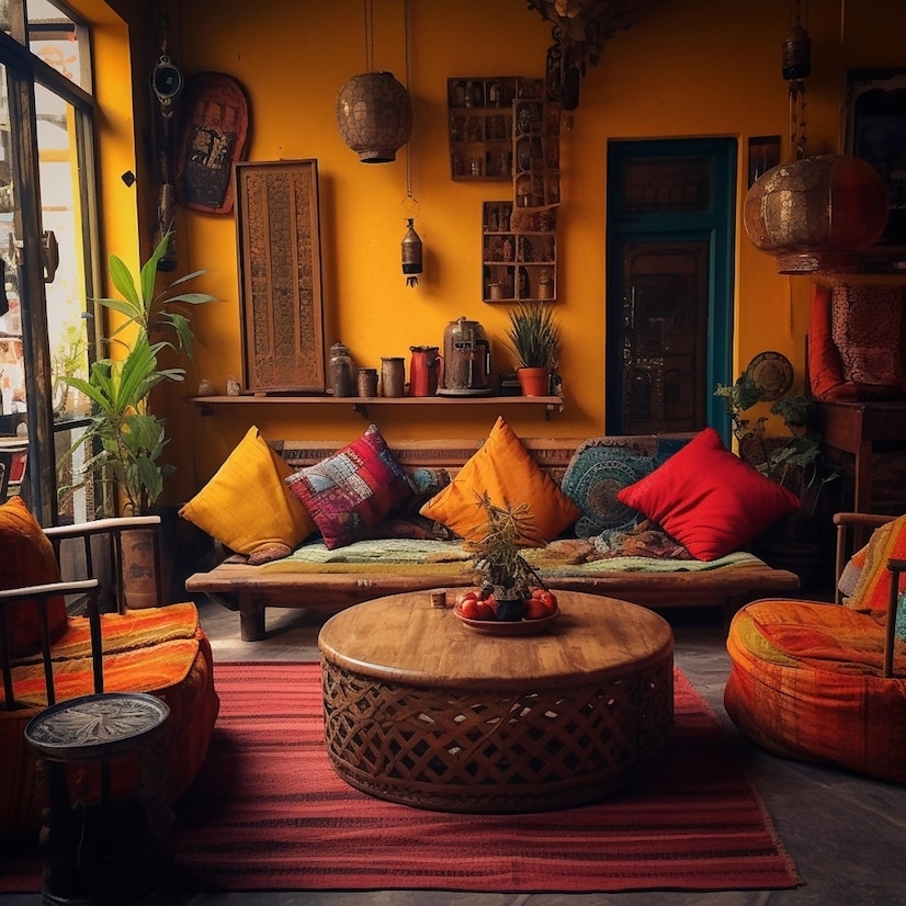
[[(167, 806), (204, 762), (219, 702), (195, 605), (131, 611), (122, 604), (121, 534), (156, 522), (146, 517), (43, 530), (20, 498), (0, 505), (0, 841), (37, 839), (45, 801), (38, 762), (66, 746), (41, 749), (37, 737), (26, 741), (26, 728), (78, 700), (140, 695), (162, 704), (161, 713), (169, 710), (159, 785)], [(111, 577), (102, 577), (107, 562)], [(65, 570), (61, 578), (60, 563), (71, 565), (72, 574)], [(98, 605), (105, 585), (112, 612)], [(110, 771), (112, 801), (136, 801), (141, 788), (135, 761), (124, 755), (125, 768)], [(90, 808), (107, 782), (106, 769), (75, 757), (64, 767)]]

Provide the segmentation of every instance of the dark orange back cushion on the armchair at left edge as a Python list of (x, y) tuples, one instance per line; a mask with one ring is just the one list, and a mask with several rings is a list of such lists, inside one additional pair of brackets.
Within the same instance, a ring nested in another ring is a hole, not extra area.
[[(59, 581), (54, 547), (21, 497), (0, 506), (0, 588), (18, 588)], [(25, 657), (41, 650), (41, 616), (36, 601), (7, 603), (10, 654)], [(57, 594), (47, 601), (52, 643), (66, 627), (66, 602)]]

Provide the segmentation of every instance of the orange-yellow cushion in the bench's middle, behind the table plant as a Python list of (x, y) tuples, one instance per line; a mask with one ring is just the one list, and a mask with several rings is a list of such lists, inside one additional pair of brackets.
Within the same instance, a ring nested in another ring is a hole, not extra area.
[(528, 503), (533, 528), (544, 541), (557, 537), (581, 516), (502, 418), (451, 484), (419, 512), (467, 541), (479, 541), (486, 521), (479, 496), (485, 491), (497, 506)]

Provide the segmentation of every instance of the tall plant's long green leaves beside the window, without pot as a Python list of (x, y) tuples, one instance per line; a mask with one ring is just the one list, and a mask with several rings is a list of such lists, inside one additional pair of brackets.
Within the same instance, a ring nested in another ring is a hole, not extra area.
[[(88, 456), (80, 471), (80, 482), (100, 478), (102, 484), (123, 495), (124, 509), (134, 516), (154, 511), (163, 491), (165, 478), (174, 471), (172, 465), (161, 462), (168, 443), (166, 419), (150, 411), (149, 398), (161, 382), (183, 381), (185, 369), (163, 367), (160, 356), (169, 349), (194, 363), (191, 322), (171, 306), (201, 305), (216, 298), (207, 293), (177, 292), (205, 271), (193, 271), (172, 281), (160, 293), (156, 292), (158, 263), (167, 253), (169, 241), (168, 233), (141, 265), (137, 280), (120, 258), (111, 256), (110, 278), (122, 298), (98, 302), (125, 315), (125, 322), (106, 340), (123, 347), (125, 355), (99, 359), (91, 365), (88, 380), (65, 377), (92, 404), (91, 421), (67, 457), (71, 460), (72, 454), (83, 448)], [(131, 342), (122, 339), (123, 331), (129, 328), (134, 333)], [(157, 336), (161, 339), (156, 339)], [(71, 488), (61, 490), (68, 492)]]

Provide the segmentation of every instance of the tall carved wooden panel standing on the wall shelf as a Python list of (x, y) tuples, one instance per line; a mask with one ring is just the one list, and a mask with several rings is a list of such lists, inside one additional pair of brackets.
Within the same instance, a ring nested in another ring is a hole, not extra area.
[(236, 165), (242, 384), (325, 393), (318, 162)]

